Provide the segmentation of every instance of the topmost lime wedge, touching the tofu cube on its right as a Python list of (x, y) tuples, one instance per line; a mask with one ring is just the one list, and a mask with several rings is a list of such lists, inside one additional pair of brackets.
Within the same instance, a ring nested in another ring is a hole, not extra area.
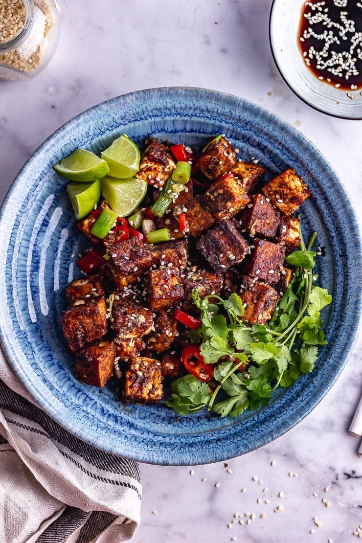
[(102, 158), (110, 168), (109, 175), (117, 179), (130, 179), (139, 170), (141, 154), (136, 143), (123, 134), (103, 151)]

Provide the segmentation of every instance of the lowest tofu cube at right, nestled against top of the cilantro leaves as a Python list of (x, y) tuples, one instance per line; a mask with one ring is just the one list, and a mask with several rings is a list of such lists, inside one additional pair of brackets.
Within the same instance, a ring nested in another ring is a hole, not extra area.
[(247, 324), (266, 324), (274, 313), (279, 296), (275, 288), (251, 279), (250, 287), (243, 290), (240, 298), (244, 305), (241, 320)]

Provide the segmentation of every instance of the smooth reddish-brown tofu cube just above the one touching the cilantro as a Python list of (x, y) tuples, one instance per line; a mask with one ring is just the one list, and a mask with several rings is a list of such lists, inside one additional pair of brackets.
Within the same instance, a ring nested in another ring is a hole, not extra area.
[(244, 266), (245, 274), (276, 285), (283, 268), (285, 247), (265, 239), (255, 239), (253, 244), (255, 247)]

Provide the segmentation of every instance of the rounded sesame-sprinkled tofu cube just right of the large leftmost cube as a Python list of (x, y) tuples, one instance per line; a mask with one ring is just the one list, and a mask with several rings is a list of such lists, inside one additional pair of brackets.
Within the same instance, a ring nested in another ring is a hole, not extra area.
[[(119, 296), (120, 293), (115, 293)], [(141, 338), (153, 326), (152, 312), (129, 298), (115, 298), (112, 305), (112, 329), (116, 338)]]

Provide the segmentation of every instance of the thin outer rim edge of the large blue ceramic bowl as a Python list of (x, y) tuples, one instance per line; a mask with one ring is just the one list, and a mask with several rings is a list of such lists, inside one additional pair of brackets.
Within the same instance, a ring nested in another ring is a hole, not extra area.
[[(196, 94), (197, 93), (205, 93), (205, 92), (207, 92), (207, 93), (215, 94), (215, 97), (218, 97), (220, 95), (221, 96), (226, 96), (228, 98), (236, 100), (239, 103), (250, 106), (251, 108), (257, 108), (259, 110), (265, 111), (266, 113), (268, 113), (268, 115), (274, 117), (279, 123), (281, 123), (282, 125), (286, 125), (289, 128), (289, 130), (292, 132), (292, 134), (294, 133), (296, 135), (299, 135), (299, 137), (302, 136), (303, 140), (308, 144), (308, 147), (311, 147), (313, 149), (314, 153), (316, 155), (319, 155), (319, 157), (320, 157), (320, 159), (322, 159), (325, 167), (327, 167), (329, 169), (331, 174), (334, 176), (335, 180), (338, 181), (339, 184), (340, 184), (340, 190), (343, 193), (346, 201), (348, 202), (350, 216), (353, 219), (353, 222), (355, 223), (355, 226), (356, 226), (356, 229), (355, 229), (354, 233), (355, 233), (355, 241), (358, 242), (358, 245), (355, 248), (355, 261), (357, 262), (357, 264), (359, 264), (360, 268), (362, 267), (362, 237), (361, 237), (361, 229), (360, 229), (360, 225), (359, 225), (359, 220), (358, 220), (357, 214), (355, 213), (354, 206), (352, 204), (350, 195), (347, 193), (347, 191), (346, 191), (346, 189), (344, 187), (344, 184), (342, 184), (342, 182), (339, 179), (338, 175), (336, 174), (336, 172), (334, 171), (332, 166), (329, 164), (329, 162), (327, 161), (325, 156), (322, 155), (322, 153), (314, 146), (314, 144), (306, 136), (304, 136), (302, 134), (301, 131), (297, 130), (295, 127), (293, 127), (293, 125), (291, 125), (287, 121), (284, 121), (284, 119), (282, 117), (276, 115), (275, 113), (267, 110), (266, 108), (262, 108), (261, 106), (251, 102), (250, 100), (245, 100), (244, 98), (240, 98), (240, 97), (238, 97), (238, 96), (236, 96), (234, 94), (225, 93), (225, 92), (221, 92), (221, 91), (215, 91), (215, 90), (212, 90), (212, 89), (204, 89), (202, 87), (184, 87), (184, 86), (155, 87), (155, 88), (150, 88), (150, 89), (132, 91), (132, 92), (129, 92), (129, 93), (122, 94), (120, 96), (113, 97), (111, 99), (104, 100), (103, 102), (100, 102), (99, 104), (91, 106), (90, 108), (87, 108), (86, 110), (82, 111), (78, 115), (76, 115), (73, 118), (69, 119), (69, 121), (63, 123), (60, 128), (55, 130), (52, 134), (50, 134), (46, 138), (46, 140), (44, 140), (40, 144), (40, 146), (34, 151), (33, 154), (31, 154), (29, 159), (24, 163), (23, 167), (20, 169), (20, 171), (16, 175), (16, 178), (14, 179), (11, 186), (9, 187), (9, 190), (8, 190), (8, 192), (7, 192), (7, 194), (6, 194), (5, 198), (4, 198), (3, 204), (0, 207), (0, 229), (1, 229), (2, 223), (3, 223), (4, 218), (5, 218), (6, 207), (7, 207), (8, 203), (9, 203), (9, 201), (11, 199), (12, 192), (15, 191), (18, 179), (21, 178), (21, 176), (24, 174), (24, 172), (26, 172), (28, 164), (32, 160), (34, 160), (34, 155), (35, 154), (37, 155), (37, 154), (41, 153), (43, 148), (45, 148), (47, 146), (49, 140), (52, 140), (53, 137), (58, 136), (58, 134), (60, 134), (65, 127), (70, 128), (74, 122), (78, 122), (79, 119), (82, 116), (86, 116), (89, 111), (97, 110), (97, 108), (100, 108), (104, 104), (111, 104), (113, 102), (116, 103), (117, 100), (119, 100), (120, 98), (126, 98), (128, 96), (134, 96), (136, 94), (139, 94), (139, 95), (146, 94), (147, 95), (148, 93), (160, 92), (160, 91), (161, 92), (162, 91), (163, 92), (169, 92), (169, 91), (190, 92), (190, 91), (192, 91), (192, 92), (195, 92)], [(262, 446), (264, 446), (264, 445), (266, 445), (268, 443), (271, 443), (271, 441), (274, 441), (278, 437), (281, 437), (281, 435), (283, 435), (284, 433), (291, 430), (291, 428), (294, 428), (294, 426), (299, 424), (299, 422), (301, 420), (303, 420), (310, 412), (313, 411), (313, 409), (318, 405), (318, 403), (323, 399), (323, 397), (327, 394), (327, 392), (329, 392), (329, 390), (332, 388), (333, 384), (336, 382), (337, 378), (341, 374), (341, 371), (344, 369), (344, 367), (346, 365), (348, 357), (350, 356), (350, 353), (351, 353), (351, 351), (353, 349), (353, 346), (354, 346), (354, 344), (355, 344), (355, 342), (357, 340), (358, 333), (359, 333), (359, 330), (360, 330), (360, 327), (361, 327), (361, 324), (362, 324), (362, 318), (361, 318), (362, 317), (362, 288), (361, 288), (362, 287), (362, 277), (358, 278), (358, 283), (359, 283), (359, 287), (360, 287), (358, 289), (359, 295), (358, 295), (358, 298), (357, 298), (356, 303), (355, 303), (355, 315), (358, 315), (358, 320), (355, 322), (353, 328), (351, 329), (351, 334), (350, 334), (350, 336), (348, 337), (348, 339), (347, 339), (347, 341), (345, 343), (344, 356), (339, 359), (338, 371), (334, 374), (333, 379), (331, 381), (329, 381), (328, 387), (325, 387), (323, 389), (323, 391), (319, 394), (318, 397), (316, 397), (316, 398), (314, 397), (313, 400), (311, 400), (310, 403), (308, 403), (307, 408), (303, 409), (303, 411), (295, 418), (295, 420), (293, 421), (292, 424), (290, 424), (290, 422), (284, 421), (283, 424), (281, 424), (280, 427), (278, 428), (278, 433), (277, 433), (277, 435), (275, 435), (275, 437), (266, 438), (263, 441), (263, 443), (257, 444), (256, 447), (253, 447), (252, 449), (250, 449), (247, 452), (252, 452), (253, 450), (258, 449), (259, 447), (262, 447)], [(16, 372), (16, 361), (14, 361), (14, 359), (11, 356), (11, 342), (10, 342), (10, 340), (8, 341), (8, 338), (6, 337), (5, 330), (3, 328), (3, 324), (2, 324), (1, 321), (0, 321), (0, 344), (1, 344), (2, 348), (3, 348), (5, 356), (8, 358), (8, 361), (9, 361), (12, 369), (14, 369), (14, 371)], [(49, 403), (47, 399), (43, 398), (41, 396), (41, 394), (37, 394), (37, 393), (33, 394), (34, 389), (29, 389), (29, 382), (27, 381), (26, 376), (24, 374), (17, 373), (17, 377), (19, 378), (20, 382), (23, 384), (24, 388), (26, 388), (28, 390), (28, 392), (34, 397), (34, 399), (37, 401), (37, 403), (40, 405), (40, 407), (49, 416), (51, 416), (60, 426), (65, 428), (65, 430), (67, 430), (68, 432), (73, 433), (79, 439), (82, 439), (82, 431), (81, 431), (81, 429), (80, 430), (79, 430), (79, 428), (75, 429), (72, 425), (67, 424), (67, 421), (58, 420), (58, 418), (56, 416), (57, 413), (56, 413), (55, 409), (52, 408), (52, 404)], [(87, 443), (89, 443), (89, 441), (87, 441)], [(98, 444), (92, 444), (92, 445), (95, 446), (95, 447), (98, 447), (100, 449), (107, 450), (104, 446), (102, 447), (99, 443)], [(110, 451), (108, 451), (108, 452), (110, 452)], [(247, 452), (242, 452), (240, 454), (232, 455), (232, 456), (225, 456), (225, 454), (221, 454), (218, 457), (215, 457), (213, 460), (210, 460), (208, 463), (220, 462), (221, 460), (227, 460), (227, 459), (230, 459), (230, 458), (235, 458), (237, 456), (242, 456), (242, 454), (246, 454)], [(117, 454), (117, 453), (114, 453), (114, 454)], [(118, 456), (124, 456), (124, 455), (122, 453), (119, 453)], [(146, 458), (143, 458), (142, 453), (141, 454), (135, 453), (132, 457), (125, 456), (125, 458), (129, 458), (129, 459), (132, 459), (132, 460), (137, 460), (137, 461), (143, 462), (143, 463), (155, 464), (155, 465), (184, 466), (184, 465), (200, 465), (200, 464), (202, 464), (201, 461), (199, 462), (195, 458), (192, 458), (192, 462), (190, 461), (191, 459), (186, 458), (185, 462), (182, 462), (182, 463), (174, 463), (174, 462), (172, 462), (172, 463), (168, 463), (168, 464), (162, 464), (160, 462), (151, 461), (151, 460), (148, 460)]]

